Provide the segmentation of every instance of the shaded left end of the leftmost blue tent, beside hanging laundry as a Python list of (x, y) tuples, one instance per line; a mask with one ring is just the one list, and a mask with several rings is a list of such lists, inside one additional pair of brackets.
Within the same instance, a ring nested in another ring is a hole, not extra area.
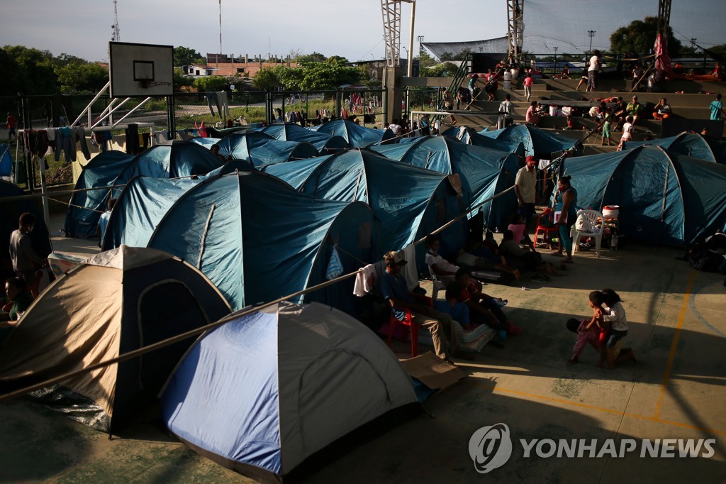
[(76, 238), (96, 238), (98, 221), (106, 210), (109, 190), (90, 190), (89, 188), (113, 185), (118, 175), (134, 160), (134, 155), (121, 151), (105, 151), (91, 158), (85, 166), (70, 197), (68, 211), (65, 212), (65, 235)]

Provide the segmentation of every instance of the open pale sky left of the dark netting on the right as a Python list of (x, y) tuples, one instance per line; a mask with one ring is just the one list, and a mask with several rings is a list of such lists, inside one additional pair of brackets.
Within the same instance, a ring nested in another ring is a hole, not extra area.
[[(121, 41), (219, 52), (218, 0), (118, 0)], [(415, 36), (425, 41), (491, 39), (507, 34), (505, 0), (417, 0)], [(467, 12), (461, 15), (461, 12)], [(384, 56), (379, 0), (221, 0), (224, 54), (285, 56), (291, 50), (348, 60)], [(446, 22), (441, 22), (445, 15)], [(107, 60), (113, 0), (3, 0), (0, 45), (24, 45), (86, 60)], [(9, 20), (12, 19), (12, 20)], [(408, 47), (411, 7), (401, 7)], [(415, 49), (418, 49), (415, 41)], [(401, 57), (406, 57), (401, 49)]]

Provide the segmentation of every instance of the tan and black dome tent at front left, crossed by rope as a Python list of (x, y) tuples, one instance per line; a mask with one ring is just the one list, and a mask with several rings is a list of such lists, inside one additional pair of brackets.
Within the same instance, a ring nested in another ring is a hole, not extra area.
[[(153, 249), (123, 246), (60, 276), (0, 346), (0, 391), (44, 382), (223, 318), (229, 305), (202, 273)], [(51, 408), (105, 432), (152, 404), (190, 337), (89, 371), (43, 396)]]

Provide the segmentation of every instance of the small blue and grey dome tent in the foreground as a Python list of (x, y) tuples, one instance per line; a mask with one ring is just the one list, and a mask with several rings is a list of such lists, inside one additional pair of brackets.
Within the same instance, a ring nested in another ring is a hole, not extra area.
[(340, 311), (283, 303), (230, 319), (197, 340), (162, 397), (168, 429), (224, 467), (299, 479), (340, 455), (341, 437), (420, 409), (396, 356)]

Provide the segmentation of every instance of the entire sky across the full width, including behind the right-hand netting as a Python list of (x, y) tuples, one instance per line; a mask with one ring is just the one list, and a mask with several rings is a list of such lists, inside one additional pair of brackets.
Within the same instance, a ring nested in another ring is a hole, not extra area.
[[(703, 47), (726, 43), (723, 1), (673, 0), (677, 39), (688, 44), (697, 38)], [(401, 5), (401, 57), (407, 57), (411, 6)], [(506, 0), (417, 0), (414, 35), (425, 42), (506, 36), (506, 5)], [(595, 12), (599, 7), (603, 10)], [(607, 49), (608, 31), (640, 15), (657, 15), (658, 1), (526, 0), (524, 12), (529, 52), (546, 55), (556, 52), (554, 47), (560, 53), (583, 52), (589, 48), (587, 30), (597, 31), (593, 48)], [(351, 61), (385, 55), (379, 0), (221, 0), (221, 13), (224, 54), (320, 52)], [(0, 18), (0, 45), (108, 59), (113, 0), (3, 0)], [(118, 0), (118, 23), (123, 42), (191, 47), (202, 55), (220, 52), (219, 0)]]

